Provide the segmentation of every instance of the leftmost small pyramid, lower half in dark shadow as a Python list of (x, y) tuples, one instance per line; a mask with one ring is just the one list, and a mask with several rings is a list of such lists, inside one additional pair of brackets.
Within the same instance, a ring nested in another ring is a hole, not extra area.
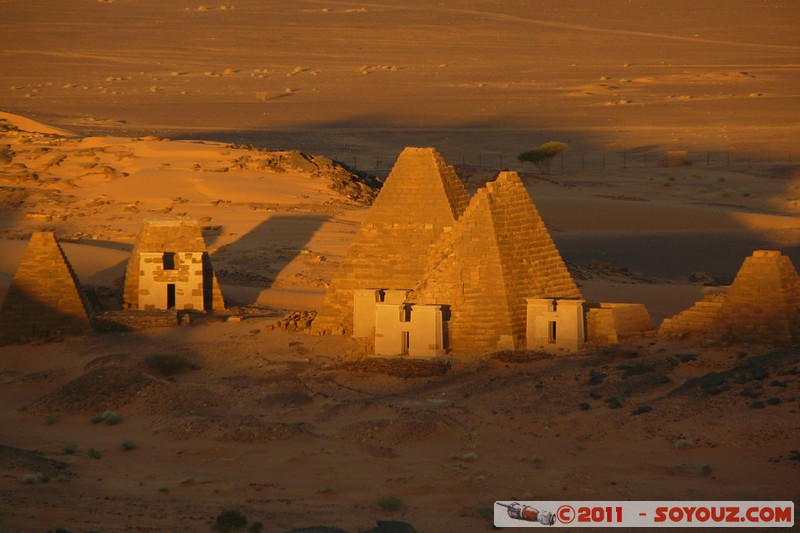
[(52, 232), (31, 235), (0, 308), (0, 341), (92, 329), (93, 313)]

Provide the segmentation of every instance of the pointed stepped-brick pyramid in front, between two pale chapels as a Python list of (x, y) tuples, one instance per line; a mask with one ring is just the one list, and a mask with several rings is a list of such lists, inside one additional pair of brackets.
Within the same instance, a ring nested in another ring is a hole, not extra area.
[(449, 348), (524, 344), (526, 298), (581, 298), (516, 172), (480, 189), (428, 257), (411, 300), (449, 306)]

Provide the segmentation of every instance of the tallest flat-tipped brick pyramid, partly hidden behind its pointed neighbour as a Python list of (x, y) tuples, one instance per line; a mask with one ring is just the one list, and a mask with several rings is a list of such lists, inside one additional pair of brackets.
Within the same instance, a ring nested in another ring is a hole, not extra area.
[(469, 203), (464, 184), (433, 148), (406, 148), (333, 277), (316, 332), (353, 328), (355, 289), (413, 289), (425, 258)]

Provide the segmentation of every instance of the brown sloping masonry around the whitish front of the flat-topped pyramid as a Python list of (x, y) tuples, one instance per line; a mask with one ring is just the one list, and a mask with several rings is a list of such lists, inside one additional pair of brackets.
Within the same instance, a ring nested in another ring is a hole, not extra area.
[(134, 244), (125, 271), (123, 300), (128, 309), (138, 309), (142, 253), (197, 252), (202, 254), (203, 308), (225, 309), (217, 275), (211, 265), (203, 233), (194, 220), (147, 220)]

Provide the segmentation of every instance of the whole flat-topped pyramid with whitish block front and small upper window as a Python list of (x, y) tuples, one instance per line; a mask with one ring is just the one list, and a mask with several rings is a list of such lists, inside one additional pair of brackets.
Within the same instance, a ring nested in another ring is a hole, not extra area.
[[(142, 293), (149, 289), (145, 288), (143, 283), (159, 281), (158, 279), (145, 279), (144, 276), (151, 275), (151, 278), (158, 275), (166, 276), (168, 272), (165, 270), (169, 267), (164, 266), (160, 270), (155, 267), (155, 263), (163, 261), (162, 255), (165, 253), (176, 254), (173, 261), (183, 261), (184, 263), (175, 266), (177, 270), (171, 273), (171, 277), (184, 284), (193, 283), (192, 293), (199, 291), (202, 304), (194, 309), (206, 311), (225, 309), (222, 291), (211, 265), (211, 258), (208, 255), (200, 226), (196, 221), (188, 219), (145, 221), (125, 272), (123, 300), (126, 308), (144, 308), (139, 305), (140, 298)], [(144, 266), (149, 266), (155, 272), (145, 271)], [(169, 279), (165, 278), (162, 281), (169, 281)], [(166, 304), (166, 297), (164, 303)], [(156, 308), (165, 309), (167, 307), (165, 305)]]

